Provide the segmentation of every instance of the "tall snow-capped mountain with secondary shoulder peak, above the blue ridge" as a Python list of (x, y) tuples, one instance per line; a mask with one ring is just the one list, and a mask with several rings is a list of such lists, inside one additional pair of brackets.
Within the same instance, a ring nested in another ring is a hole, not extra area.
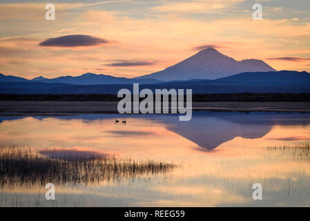
[(214, 48), (207, 48), (197, 54), (157, 73), (135, 79), (157, 79), (159, 81), (185, 81), (188, 79), (218, 79), (244, 72), (274, 71), (264, 61), (245, 59), (236, 61)]

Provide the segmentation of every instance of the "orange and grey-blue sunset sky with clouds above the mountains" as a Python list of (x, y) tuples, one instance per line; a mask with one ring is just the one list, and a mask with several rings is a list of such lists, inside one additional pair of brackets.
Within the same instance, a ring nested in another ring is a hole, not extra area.
[[(262, 20), (252, 17), (255, 3)], [(209, 46), (310, 72), (310, 0), (1, 0), (0, 30), (0, 73), (28, 79), (137, 77)]]

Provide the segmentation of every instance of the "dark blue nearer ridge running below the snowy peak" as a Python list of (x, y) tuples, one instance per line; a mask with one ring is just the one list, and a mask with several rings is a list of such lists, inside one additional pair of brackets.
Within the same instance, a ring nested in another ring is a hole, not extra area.
[[(117, 94), (122, 88), (133, 90), (133, 84), (74, 85), (43, 82), (1, 82), (0, 93), (49, 94)], [(271, 71), (267, 73), (240, 73), (215, 80), (192, 80), (141, 84), (139, 89), (171, 88), (204, 93), (310, 93), (310, 73), (298, 71)]]

